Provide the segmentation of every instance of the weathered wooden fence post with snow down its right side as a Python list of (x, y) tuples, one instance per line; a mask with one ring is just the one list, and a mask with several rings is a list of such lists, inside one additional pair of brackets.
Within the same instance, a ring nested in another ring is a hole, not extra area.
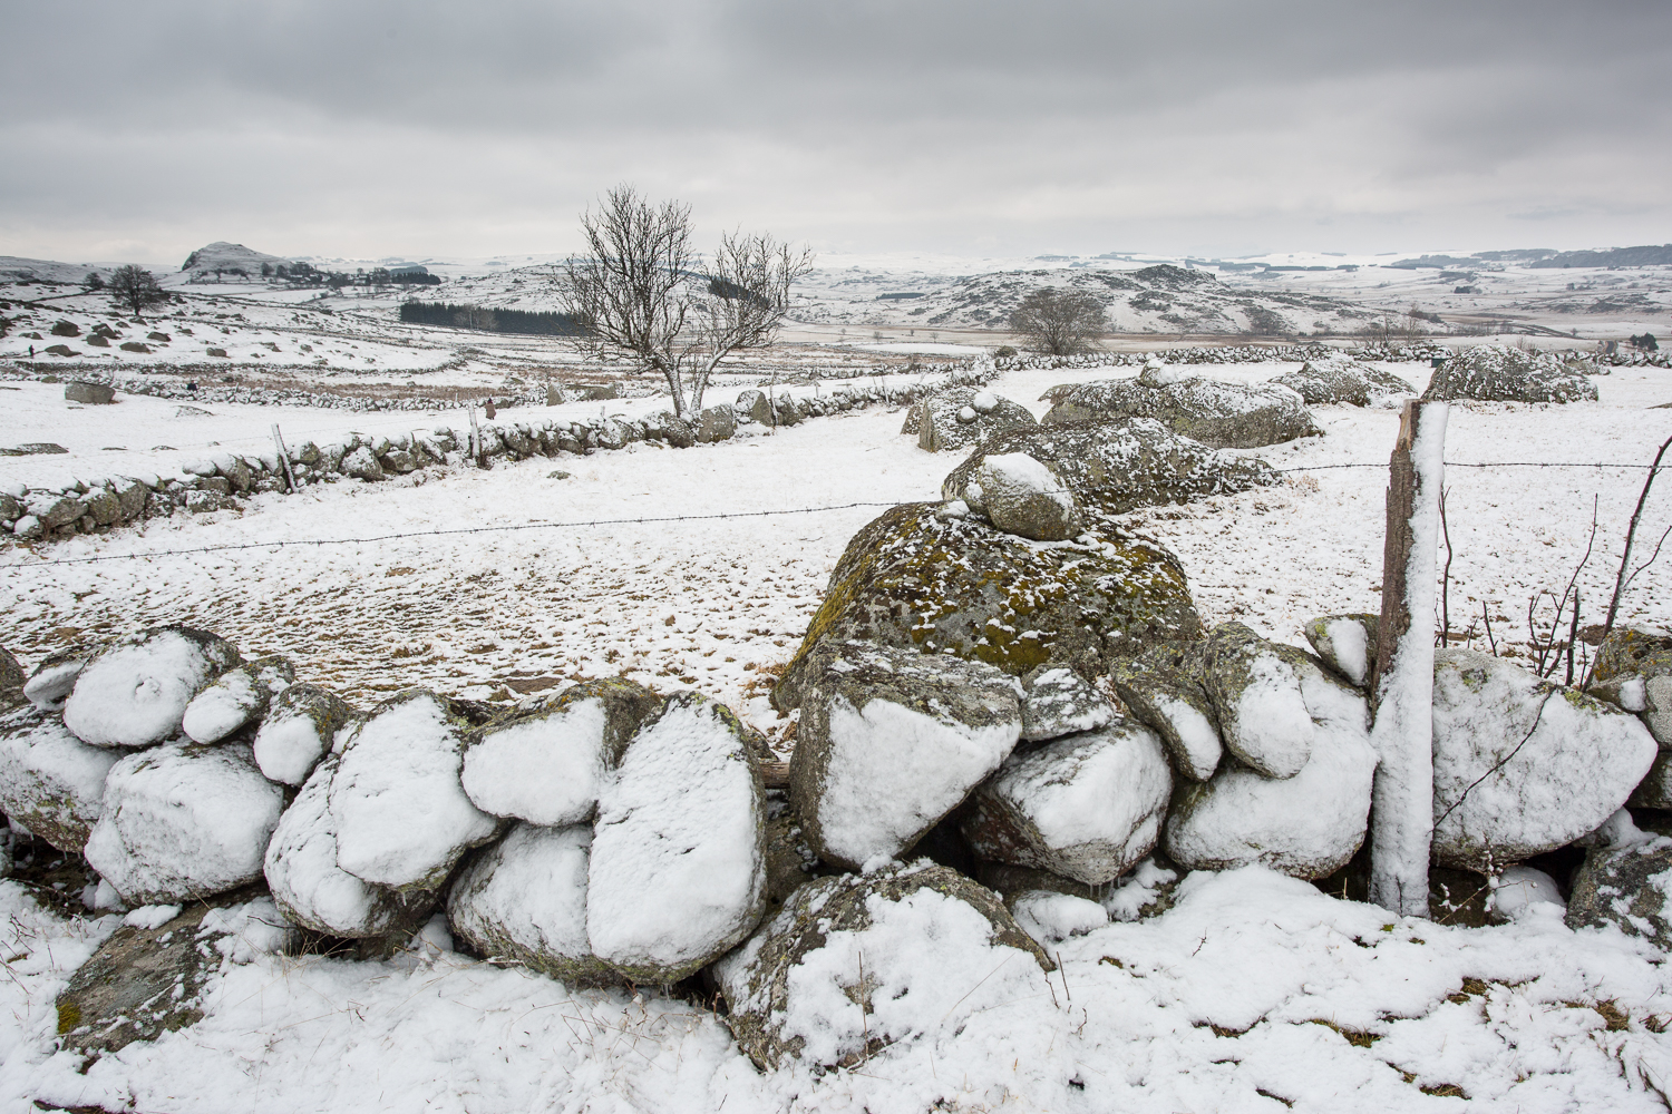
[(1388, 461), (1388, 536), (1381, 625), (1369, 673), (1376, 767), (1369, 899), (1428, 915), (1428, 852), (1435, 827), (1435, 575), (1445, 481), (1445, 403), (1411, 399)]

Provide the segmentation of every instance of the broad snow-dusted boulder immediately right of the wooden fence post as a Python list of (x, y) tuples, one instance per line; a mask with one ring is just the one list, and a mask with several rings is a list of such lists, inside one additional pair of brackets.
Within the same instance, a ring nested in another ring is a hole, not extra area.
[(1503, 867), (1595, 832), (1659, 753), (1629, 711), (1473, 650), (1435, 651), (1433, 706), (1445, 867)]

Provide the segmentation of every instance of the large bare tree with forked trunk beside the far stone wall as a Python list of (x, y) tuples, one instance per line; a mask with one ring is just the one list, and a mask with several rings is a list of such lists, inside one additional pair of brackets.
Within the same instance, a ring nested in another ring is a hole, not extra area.
[(691, 247), (691, 205), (652, 205), (630, 185), (580, 217), (587, 251), (563, 272), (568, 309), (585, 336), (667, 381), (674, 413), (702, 409), (727, 354), (764, 347), (789, 309), (789, 287), (813, 269), (809, 251), (766, 234), (721, 235), (714, 259)]

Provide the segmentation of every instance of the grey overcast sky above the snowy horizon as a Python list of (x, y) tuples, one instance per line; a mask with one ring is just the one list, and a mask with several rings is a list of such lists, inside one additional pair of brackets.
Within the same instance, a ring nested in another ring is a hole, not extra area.
[(0, 254), (1672, 241), (1667, 0), (0, 0)]

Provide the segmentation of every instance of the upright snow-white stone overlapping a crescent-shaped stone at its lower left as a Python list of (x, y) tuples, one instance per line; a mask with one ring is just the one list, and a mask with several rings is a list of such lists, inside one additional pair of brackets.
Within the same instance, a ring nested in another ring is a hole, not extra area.
[(336, 862), (396, 890), (435, 890), (498, 822), (458, 782), (470, 723), (451, 703), (411, 688), (383, 701), (343, 742), (331, 780)]

